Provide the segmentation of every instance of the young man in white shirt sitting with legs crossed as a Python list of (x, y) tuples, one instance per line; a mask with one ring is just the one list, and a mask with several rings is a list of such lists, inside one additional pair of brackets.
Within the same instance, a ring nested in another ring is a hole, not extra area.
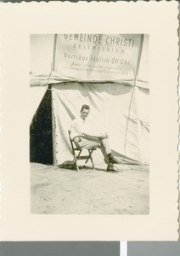
[(70, 138), (74, 140), (77, 148), (100, 148), (104, 154), (104, 161), (108, 164), (107, 171), (117, 171), (113, 164), (120, 164), (112, 155), (108, 134), (91, 133), (86, 127), (86, 118), (90, 112), (88, 105), (82, 105), (80, 117), (74, 119), (70, 126)]

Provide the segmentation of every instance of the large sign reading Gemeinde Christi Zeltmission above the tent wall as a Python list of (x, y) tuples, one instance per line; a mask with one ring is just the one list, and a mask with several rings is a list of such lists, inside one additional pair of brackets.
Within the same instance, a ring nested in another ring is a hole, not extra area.
[(54, 71), (85, 81), (133, 79), (142, 44), (142, 34), (58, 34)]

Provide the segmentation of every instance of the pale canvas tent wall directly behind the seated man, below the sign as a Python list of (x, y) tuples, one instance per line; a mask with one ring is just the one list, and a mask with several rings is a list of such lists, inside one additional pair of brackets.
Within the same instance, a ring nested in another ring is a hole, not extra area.
[[(53, 164), (73, 160), (68, 129), (82, 104), (91, 107), (90, 130), (107, 131), (116, 156), (149, 163), (149, 90), (125, 84), (53, 84)], [(103, 162), (97, 152), (95, 160)]]

